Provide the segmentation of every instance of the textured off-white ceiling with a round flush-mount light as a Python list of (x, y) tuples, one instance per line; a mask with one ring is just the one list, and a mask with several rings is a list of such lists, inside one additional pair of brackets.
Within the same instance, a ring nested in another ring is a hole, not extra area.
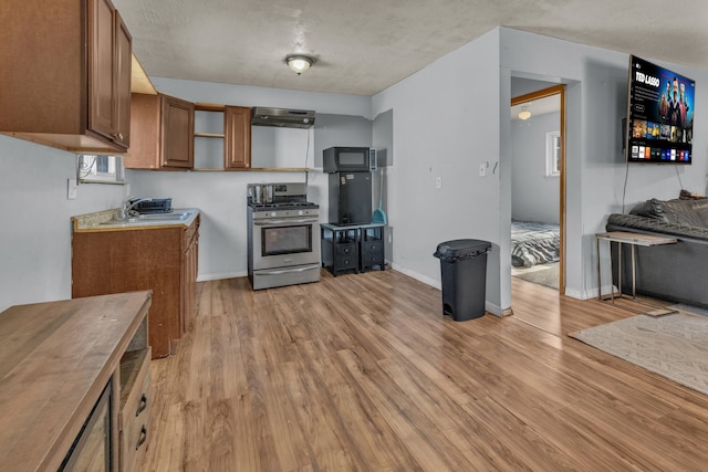
[[(708, 1), (113, 0), (149, 76), (369, 96), (496, 27), (708, 69)], [(283, 59), (317, 63), (301, 76)]]

